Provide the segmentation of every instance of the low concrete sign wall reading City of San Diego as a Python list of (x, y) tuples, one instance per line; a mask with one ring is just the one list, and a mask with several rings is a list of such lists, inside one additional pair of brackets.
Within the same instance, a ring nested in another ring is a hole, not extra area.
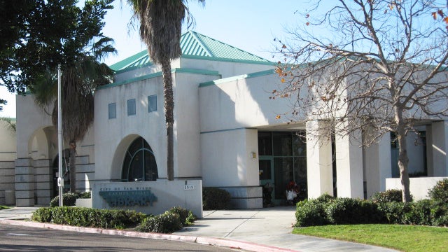
[(202, 181), (151, 181), (94, 183), (95, 209), (129, 209), (145, 214), (163, 214), (183, 207), (202, 218)]

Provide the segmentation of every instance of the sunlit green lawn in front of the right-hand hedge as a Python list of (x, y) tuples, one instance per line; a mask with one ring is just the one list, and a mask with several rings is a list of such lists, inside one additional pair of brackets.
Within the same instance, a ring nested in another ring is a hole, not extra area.
[(295, 228), (294, 234), (311, 235), (399, 251), (447, 251), (448, 228), (412, 225), (325, 225)]

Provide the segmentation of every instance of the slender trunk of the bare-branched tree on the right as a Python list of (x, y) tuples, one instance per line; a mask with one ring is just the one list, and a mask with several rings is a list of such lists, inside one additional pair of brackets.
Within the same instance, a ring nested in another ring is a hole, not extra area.
[(397, 123), (398, 137), (398, 168), (400, 169), (400, 180), (402, 187), (402, 201), (411, 202), (411, 193), (409, 191), (409, 174), (407, 173), (407, 146), (406, 146), (406, 130), (402, 121), (402, 111), (395, 109), (395, 123)]

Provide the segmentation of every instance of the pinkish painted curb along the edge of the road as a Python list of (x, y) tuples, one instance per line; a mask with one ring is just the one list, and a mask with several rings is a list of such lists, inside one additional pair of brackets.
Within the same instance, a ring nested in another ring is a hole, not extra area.
[(49, 228), (54, 230), (65, 230), (73, 232), (85, 232), (93, 234), (102, 235), (120, 235), (125, 237), (138, 237), (146, 239), (162, 239), (168, 241), (187, 241), (194, 242), (197, 244), (211, 245), (211, 246), (225, 246), (228, 248), (238, 248), (244, 249), (246, 251), (253, 252), (299, 252), (288, 248), (279, 248), (274, 246), (267, 246), (262, 244), (255, 244), (248, 241), (237, 241), (232, 239), (221, 239), (213, 237), (193, 237), (188, 235), (172, 235), (172, 234), (160, 234), (152, 232), (136, 232), (136, 231), (125, 231), (125, 230), (105, 230), (100, 228), (83, 228), (83, 227), (73, 227), (69, 225), (59, 225), (51, 223), (37, 223), (33, 221), (14, 221), (14, 220), (2, 220), (0, 219), (0, 224), (7, 225), (22, 225), (32, 228)]

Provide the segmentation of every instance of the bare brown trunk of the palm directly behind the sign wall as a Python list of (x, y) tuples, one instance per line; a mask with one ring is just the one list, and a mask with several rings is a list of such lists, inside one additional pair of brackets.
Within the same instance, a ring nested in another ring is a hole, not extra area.
[(174, 94), (171, 64), (162, 62), (163, 94), (165, 99), (165, 122), (167, 123), (167, 177), (174, 180)]

